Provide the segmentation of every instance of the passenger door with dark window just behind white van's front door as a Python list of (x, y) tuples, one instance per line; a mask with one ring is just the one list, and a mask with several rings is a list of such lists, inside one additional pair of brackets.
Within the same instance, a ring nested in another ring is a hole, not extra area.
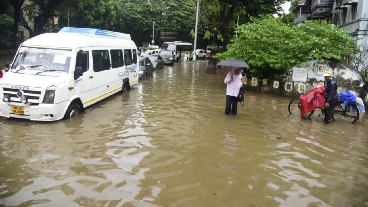
[(109, 50), (92, 50), (93, 60), (93, 98), (95, 103), (108, 95), (107, 92), (113, 90), (110, 87), (112, 77), (110, 73), (111, 62)]

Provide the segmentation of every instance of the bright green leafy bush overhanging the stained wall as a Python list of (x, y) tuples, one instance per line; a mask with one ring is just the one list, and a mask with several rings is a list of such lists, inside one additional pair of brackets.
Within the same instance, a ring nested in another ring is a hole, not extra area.
[(216, 58), (244, 60), (251, 67), (248, 72), (258, 77), (311, 59), (348, 62), (357, 51), (355, 39), (327, 21), (307, 20), (294, 27), (270, 15), (241, 25), (232, 42), (228, 51)]

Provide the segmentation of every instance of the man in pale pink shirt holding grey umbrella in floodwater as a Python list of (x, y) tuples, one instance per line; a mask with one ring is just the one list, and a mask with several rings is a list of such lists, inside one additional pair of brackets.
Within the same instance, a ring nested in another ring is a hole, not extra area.
[(234, 70), (231, 70), (227, 73), (224, 83), (227, 84), (226, 87), (226, 108), (225, 114), (236, 114), (238, 109), (238, 95), (240, 88), (243, 87), (243, 82), (241, 81), (243, 78), (243, 67), (249, 68), (248, 64), (237, 60), (223, 60), (219, 64), (220, 66), (233, 66)]

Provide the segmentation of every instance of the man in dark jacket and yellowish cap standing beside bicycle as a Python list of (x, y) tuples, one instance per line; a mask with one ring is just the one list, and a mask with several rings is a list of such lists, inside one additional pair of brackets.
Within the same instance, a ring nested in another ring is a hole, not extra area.
[(326, 103), (325, 103), (325, 123), (329, 124), (332, 119), (333, 110), (337, 104), (337, 84), (335, 78), (332, 77), (332, 72), (326, 71), (323, 76), (325, 77), (325, 83), (323, 87), (326, 90)]

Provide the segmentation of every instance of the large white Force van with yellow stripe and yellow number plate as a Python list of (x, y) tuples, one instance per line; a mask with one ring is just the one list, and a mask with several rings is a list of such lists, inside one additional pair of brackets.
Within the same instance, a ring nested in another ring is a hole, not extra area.
[(67, 28), (23, 42), (0, 82), (0, 116), (70, 119), (138, 82), (130, 35)]

